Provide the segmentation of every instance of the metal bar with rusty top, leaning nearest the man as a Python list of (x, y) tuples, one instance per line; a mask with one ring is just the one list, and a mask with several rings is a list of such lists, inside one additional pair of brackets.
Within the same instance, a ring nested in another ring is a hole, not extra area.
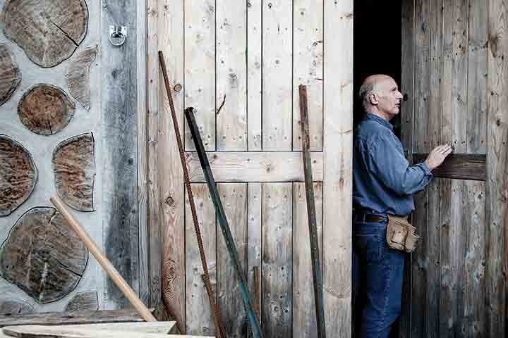
[(312, 167), (310, 165), (310, 137), (308, 125), (308, 106), (307, 106), (307, 88), (303, 84), (298, 87), (300, 92), (300, 119), (301, 119), (301, 139), (303, 154), (303, 175), (305, 175), (307, 215), (309, 224), (310, 256), (313, 265), (314, 280), (314, 299), (317, 321), (317, 337), (326, 337), (325, 327), (325, 308), (323, 306), (322, 294), (322, 274), (319, 257), (319, 242), (317, 239), (317, 221), (314, 202), (314, 186)]

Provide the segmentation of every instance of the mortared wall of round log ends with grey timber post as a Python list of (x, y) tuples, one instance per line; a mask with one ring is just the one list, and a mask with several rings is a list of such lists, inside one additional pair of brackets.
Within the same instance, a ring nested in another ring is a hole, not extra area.
[[(23, 256), (25, 269), (32, 268), (31, 284), (8, 281), (16, 273), (8, 264), (13, 256), (1, 253), (4, 276), (0, 277), (0, 306), (16, 308), (12, 304), (18, 304), (18, 308), (30, 308), (30, 312), (123, 307), (123, 296), (94, 259), (83, 263), (80, 256), (84, 271), (73, 271), (78, 274), (74, 278), (77, 282), (58, 273), (58, 262), (73, 258), (76, 251), (69, 246), (78, 244), (58, 243), (57, 239), (61, 241), (66, 234), (58, 229), (65, 226), (60, 223), (55, 223), (58, 226), (52, 232), (43, 231), (37, 225), (42, 220), (40, 211), (50, 215), (54, 211), (35, 207), (51, 206), (49, 197), (60, 194), (95, 242), (102, 244), (127, 282), (147, 299), (148, 247), (146, 241), (139, 240), (147, 239), (143, 178), (146, 4), (119, 0), (52, 1), (50, 10), (44, 4), (0, 0), (0, 134), (19, 142), (30, 153), (38, 173), (28, 199), (21, 201), (12, 213), (0, 217), (0, 242), (16, 233), (11, 228), (25, 215), (18, 225), (34, 229), (23, 231), (23, 243), (32, 242), (35, 248), (27, 245)], [(109, 43), (109, 25), (128, 28), (123, 46)], [(12, 60), (7, 58), (6, 49)], [(7, 154), (5, 146), (2, 151), (3, 156)], [(0, 186), (9, 189), (11, 178), (19, 180), (25, 174), (23, 168), (16, 172), (16, 168), (9, 167), (13, 161), (4, 160), (0, 159)], [(11, 178), (4, 176), (6, 173)], [(5, 197), (5, 192), (2, 190), (0, 198)], [(29, 218), (32, 214), (37, 217)], [(53, 232), (51, 238), (56, 242), (47, 242), (49, 239), (44, 236)], [(41, 241), (46, 242), (45, 246), (35, 245)], [(7, 245), (11, 242), (12, 239), (2, 247), (9, 250), (16, 244)], [(56, 265), (54, 271), (44, 270), (52, 264)], [(39, 293), (32, 294), (33, 282), (59, 292), (36, 290)], [(25, 291), (16, 284), (23, 284)], [(73, 287), (58, 289), (66, 284)], [(47, 303), (48, 299), (51, 302)]]

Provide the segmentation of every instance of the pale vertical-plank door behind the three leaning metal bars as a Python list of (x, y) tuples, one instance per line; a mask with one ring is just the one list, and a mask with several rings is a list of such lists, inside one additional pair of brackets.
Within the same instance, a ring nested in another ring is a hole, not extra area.
[[(157, 15), (149, 16), (149, 23), (159, 20), (159, 25), (152, 23), (149, 29), (158, 27), (159, 49), (174, 76), (171, 85), (183, 87), (174, 93), (180, 103), (177, 113), (227, 336), (247, 337), (248, 319), (188, 125), (183, 123), (183, 107), (196, 108), (250, 294), (259, 292), (254, 303), (260, 304), (265, 337), (317, 337), (298, 106), (298, 85), (306, 84), (327, 334), (349, 337), (353, 1), (179, 0), (159, 6)], [(162, 39), (170, 33), (177, 36), (164, 40), (163, 46)], [(153, 53), (150, 49), (149, 68), (150, 60), (157, 60)], [(162, 100), (158, 105), (157, 99)], [(158, 125), (164, 129), (158, 133), (157, 168), (181, 187), (159, 193), (162, 206), (167, 194), (178, 194), (171, 200), (174, 210), (160, 211), (159, 219), (164, 220), (162, 234), (174, 230), (174, 236), (163, 236), (162, 241), (171, 241), (171, 252), (184, 253), (183, 258), (175, 256), (179, 261), (171, 258), (177, 265), (171, 278), (178, 285), (173, 289), (183, 294), (171, 294), (169, 301), (182, 304), (187, 334), (213, 335), (188, 204), (176, 201), (183, 189), (181, 169), (162, 164), (176, 161), (178, 154), (167, 137), (173, 127), (164, 100), (164, 94), (149, 99), (149, 106), (159, 107)], [(160, 174), (159, 180), (168, 178)], [(161, 182), (159, 186), (171, 187)], [(260, 272), (257, 285), (255, 269)], [(185, 275), (178, 275), (182, 270)]]

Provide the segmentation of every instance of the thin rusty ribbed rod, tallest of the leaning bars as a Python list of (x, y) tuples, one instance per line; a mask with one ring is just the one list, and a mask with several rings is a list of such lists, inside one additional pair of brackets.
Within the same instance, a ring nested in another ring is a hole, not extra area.
[(205, 289), (208, 294), (208, 300), (210, 301), (210, 308), (212, 309), (212, 315), (214, 317), (214, 325), (215, 325), (215, 334), (217, 337), (226, 338), (226, 330), (222, 326), (222, 320), (220, 320), (219, 309), (217, 308), (217, 304), (215, 303), (215, 296), (212, 290), (212, 284), (210, 283), (210, 274), (208, 273), (208, 265), (205, 256), (205, 249), (203, 249), (201, 231), (198, 223), (198, 213), (196, 213), (195, 203), (194, 203), (194, 194), (191, 189), (191, 180), (188, 175), (187, 163), (185, 160), (185, 154), (183, 149), (183, 143), (180, 135), (180, 128), (178, 119), (176, 118), (176, 110), (174, 108), (173, 95), (171, 94), (171, 86), (169, 85), (169, 79), (167, 75), (166, 61), (164, 61), (164, 54), (162, 51), (159, 51), (159, 65), (162, 70), (162, 76), (164, 77), (164, 85), (166, 86), (167, 97), (169, 101), (169, 108), (171, 110), (171, 118), (173, 118), (173, 126), (176, 134), (176, 143), (179, 147), (180, 161), (183, 170), (183, 181), (185, 182), (187, 189), (187, 196), (189, 201), (189, 206), (191, 206), (191, 213), (194, 223), (195, 236), (198, 240), (198, 248), (200, 251), (201, 265), (203, 269), (202, 280), (205, 283)]

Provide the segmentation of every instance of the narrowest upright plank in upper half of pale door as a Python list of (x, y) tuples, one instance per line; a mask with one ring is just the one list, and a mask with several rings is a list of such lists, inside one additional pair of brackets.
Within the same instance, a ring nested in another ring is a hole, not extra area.
[(262, 143), (262, 0), (247, 1), (247, 137), (248, 150)]

